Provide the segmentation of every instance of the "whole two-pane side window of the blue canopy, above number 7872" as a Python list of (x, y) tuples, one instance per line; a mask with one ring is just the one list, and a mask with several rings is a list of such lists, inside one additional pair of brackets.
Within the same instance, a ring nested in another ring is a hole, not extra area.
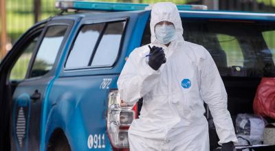
[(84, 25), (69, 53), (66, 69), (111, 67), (120, 50), (126, 21)]

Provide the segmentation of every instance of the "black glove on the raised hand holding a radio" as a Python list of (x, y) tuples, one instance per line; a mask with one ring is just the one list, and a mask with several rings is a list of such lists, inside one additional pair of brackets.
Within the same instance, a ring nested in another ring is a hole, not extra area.
[(153, 46), (151, 48), (150, 45), (148, 45), (148, 47), (150, 49), (148, 65), (154, 70), (158, 70), (159, 67), (166, 62), (164, 51), (162, 50), (162, 47)]

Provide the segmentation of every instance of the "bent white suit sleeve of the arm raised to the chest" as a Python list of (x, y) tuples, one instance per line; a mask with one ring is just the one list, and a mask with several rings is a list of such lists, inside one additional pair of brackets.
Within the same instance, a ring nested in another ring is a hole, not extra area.
[(155, 71), (146, 58), (133, 50), (118, 78), (118, 91), (126, 104), (135, 104), (141, 97), (153, 89), (159, 78), (159, 70)]

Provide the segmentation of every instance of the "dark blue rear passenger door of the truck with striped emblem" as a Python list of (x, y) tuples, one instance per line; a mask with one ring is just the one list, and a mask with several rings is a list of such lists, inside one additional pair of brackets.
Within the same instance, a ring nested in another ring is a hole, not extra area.
[[(72, 21), (50, 21), (44, 28), (33, 53), (26, 49), (23, 54), (31, 56), (25, 80), (14, 88), (11, 106), (11, 149), (39, 150), (41, 121), (47, 108), (44, 100), (54, 78), (56, 58), (63, 46)], [(10, 80), (16, 79), (13, 71), (19, 70), (25, 55), (12, 68)], [(18, 68), (18, 69), (17, 69)], [(26, 69), (25, 69), (26, 70)]]

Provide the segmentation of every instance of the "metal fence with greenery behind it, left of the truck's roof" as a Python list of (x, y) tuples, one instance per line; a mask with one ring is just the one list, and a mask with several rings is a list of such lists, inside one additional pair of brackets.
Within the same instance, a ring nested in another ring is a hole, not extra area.
[[(34, 23), (56, 14), (55, 0), (0, 0), (0, 60)], [(3, 26), (5, 25), (5, 26)]]

